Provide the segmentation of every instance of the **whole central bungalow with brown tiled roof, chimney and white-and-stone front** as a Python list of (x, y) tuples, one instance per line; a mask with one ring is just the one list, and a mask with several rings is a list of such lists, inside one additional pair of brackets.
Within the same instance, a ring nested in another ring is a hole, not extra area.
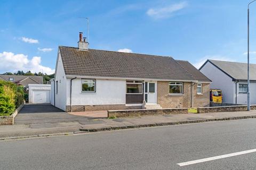
[(170, 56), (59, 46), (52, 105), (66, 112), (209, 106), (211, 81)]

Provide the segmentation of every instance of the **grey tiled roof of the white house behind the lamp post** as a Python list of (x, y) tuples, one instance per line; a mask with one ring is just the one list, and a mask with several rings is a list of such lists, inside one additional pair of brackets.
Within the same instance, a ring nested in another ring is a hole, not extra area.
[[(235, 80), (247, 80), (247, 63), (208, 61)], [(250, 80), (256, 80), (256, 64), (250, 64)]]

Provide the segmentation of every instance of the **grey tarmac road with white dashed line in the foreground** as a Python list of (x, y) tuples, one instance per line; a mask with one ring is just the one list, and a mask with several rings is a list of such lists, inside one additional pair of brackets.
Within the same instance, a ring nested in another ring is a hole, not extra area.
[(183, 124), (1, 141), (0, 169), (256, 169), (252, 149), (256, 119)]

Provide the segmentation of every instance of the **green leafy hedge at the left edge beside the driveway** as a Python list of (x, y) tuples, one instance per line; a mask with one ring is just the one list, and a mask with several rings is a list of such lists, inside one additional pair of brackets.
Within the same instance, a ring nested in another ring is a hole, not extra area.
[(23, 96), (22, 86), (0, 80), (0, 116), (11, 115), (23, 103)]

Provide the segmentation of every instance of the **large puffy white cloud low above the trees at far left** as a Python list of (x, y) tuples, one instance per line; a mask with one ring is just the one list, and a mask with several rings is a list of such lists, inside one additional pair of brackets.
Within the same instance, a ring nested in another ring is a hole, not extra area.
[(31, 60), (24, 54), (13, 54), (11, 52), (0, 53), (0, 72), (17, 72), (18, 70), (27, 72), (54, 73), (50, 67), (41, 65), (41, 57), (34, 56)]

